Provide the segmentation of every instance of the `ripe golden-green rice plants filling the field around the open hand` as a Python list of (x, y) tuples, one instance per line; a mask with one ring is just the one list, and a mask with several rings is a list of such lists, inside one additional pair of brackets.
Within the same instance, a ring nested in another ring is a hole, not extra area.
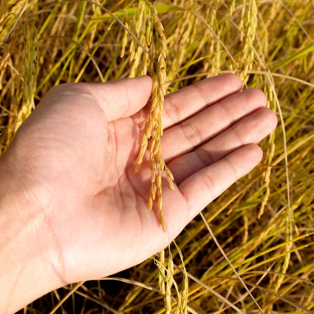
[[(247, 87), (263, 89), (280, 123), (261, 143), (262, 163), (203, 216), (265, 313), (313, 313), (314, 2), (96, 2), (0, 0), (1, 153), (53, 85), (149, 71), (153, 109), (143, 146), (155, 138), (151, 198), (161, 200), (163, 95), (219, 73), (239, 74)], [(69, 290), (59, 313), (259, 312), (200, 216), (176, 243), (183, 259), (171, 244), (163, 263), (155, 259), (158, 267), (149, 259), (114, 280), (64, 287), (24, 312), (49, 312)]]

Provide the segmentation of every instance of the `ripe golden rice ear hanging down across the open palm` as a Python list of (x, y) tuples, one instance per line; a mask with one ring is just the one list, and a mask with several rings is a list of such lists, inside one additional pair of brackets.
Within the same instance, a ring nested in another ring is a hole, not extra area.
[[(144, 2), (143, 2), (144, 3)], [(141, 38), (142, 45), (149, 49), (149, 53), (155, 57), (155, 52), (157, 52), (157, 61), (149, 60), (149, 74), (153, 80), (153, 88), (151, 95), (151, 107), (149, 110), (149, 116), (147, 117), (145, 127), (144, 127), (144, 135), (141, 144), (141, 150), (138, 157), (138, 163), (135, 167), (135, 173), (138, 173), (139, 167), (143, 162), (143, 156), (146, 150), (146, 142), (148, 138), (151, 137), (150, 149), (149, 149), (149, 161), (152, 163), (152, 174), (151, 174), (151, 189), (149, 196), (149, 208), (152, 208), (152, 203), (156, 200), (158, 205), (158, 210), (161, 214), (160, 224), (162, 225), (163, 230), (166, 230), (165, 219), (162, 214), (162, 197), (161, 197), (161, 173), (163, 171), (167, 171), (165, 166), (165, 161), (161, 153), (161, 145), (160, 138), (163, 134), (163, 126), (161, 122), (162, 109), (164, 106), (164, 99), (166, 94), (166, 36), (164, 34), (164, 26), (162, 25), (160, 19), (158, 18), (157, 10), (153, 7), (153, 5), (149, 2), (146, 2), (146, 5), (149, 8), (148, 21), (146, 23), (146, 30), (143, 32), (143, 36)], [(142, 5), (142, 4), (141, 4)], [(155, 35), (155, 41), (153, 36)], [(122, 47), (125, 40), (123, 38)], [(131, 50), (133, 50), (133, 44), (130, 44), (130, 54)], [(132, 48), (132, 49), (131, 49)], [(144, 57), (145, 56), (145, 57)], [(131, 54), (131, 59), (133, 59), (133, 54)], [(142, 72), (147, 71), (147, 63), (146, 54), (143, 53), (143, 69)], [(174, 184), (171, 180), (173, 180), (173, 176), (170, 173), (167, 174), (167, 181), (169, 183), (169, 187), (174, 190)], [(172, 178), (172, 179), (171, 179)], [(157, 182), (155, 182), (155, 180)], [(156, 189), (158, 189), (157, 198), (156, 198)]]

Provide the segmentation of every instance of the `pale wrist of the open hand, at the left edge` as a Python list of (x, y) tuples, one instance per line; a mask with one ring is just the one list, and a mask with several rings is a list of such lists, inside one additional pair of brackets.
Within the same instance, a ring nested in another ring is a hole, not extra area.
[(11, 313), (65, 283), (44, 205), (5, 158), (0, 158), (0, 313)]

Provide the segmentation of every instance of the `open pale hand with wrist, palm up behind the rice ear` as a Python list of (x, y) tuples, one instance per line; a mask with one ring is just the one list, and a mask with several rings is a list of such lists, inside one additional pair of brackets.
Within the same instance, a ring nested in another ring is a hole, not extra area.
[(148, 151), (133, 175), (151, 89), (148, 76), (62, 84), (19, 128), (0, 159), (0, 312), (141, 263), (261, 161), (256, 143), (277, 118), (260, 90), (224, 74), (167, 95), (175, 191), (163, 177), (163, 232), (148, 209)]

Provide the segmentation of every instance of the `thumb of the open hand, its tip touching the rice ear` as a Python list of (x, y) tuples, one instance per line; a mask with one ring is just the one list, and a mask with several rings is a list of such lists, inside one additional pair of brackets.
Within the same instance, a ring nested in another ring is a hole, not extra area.
[(132, 116), (142, 109), (149, 100), (152, 85), (152, 79), (144, 75), (107, 83), (89, 84), (89, 91), (110, 122)]

